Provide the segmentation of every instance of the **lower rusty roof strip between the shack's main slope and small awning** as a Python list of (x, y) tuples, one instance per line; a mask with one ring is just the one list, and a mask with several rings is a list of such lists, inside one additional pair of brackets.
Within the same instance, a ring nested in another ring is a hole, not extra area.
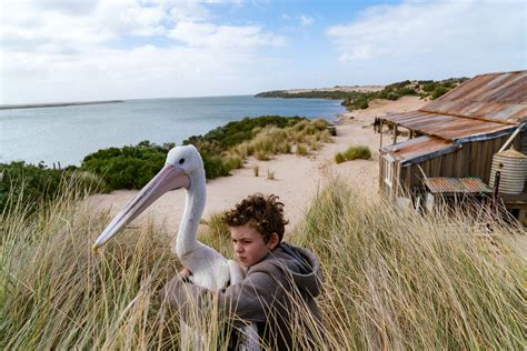
[(384, 120), (455, 143), (499, 138), (516, 129), (515, 124), (422, 111), (389, 114)]

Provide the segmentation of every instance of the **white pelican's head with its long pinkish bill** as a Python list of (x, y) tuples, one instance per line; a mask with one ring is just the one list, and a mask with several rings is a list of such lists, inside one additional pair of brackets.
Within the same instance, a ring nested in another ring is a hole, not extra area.
[(165, 167), (120, 211), (97, 238), (92, 250), (97, 251), (125, 225), (141, 214), (163, 193), (175, 189), (190, 189), (205, 183), (203, 161), (193, 146), (176, 147), (168, 152)]

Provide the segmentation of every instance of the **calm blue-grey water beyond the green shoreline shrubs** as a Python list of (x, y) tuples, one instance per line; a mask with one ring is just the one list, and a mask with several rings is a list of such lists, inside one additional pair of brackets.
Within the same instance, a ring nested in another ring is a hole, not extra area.
[(301, 116), (332, 121), (340, 101), (252, 96), (127, 100), (119, 103), (0, 110), (0, 163), (79, 166), (99, 149), (142, 140), (180, 144), (245, 117)]

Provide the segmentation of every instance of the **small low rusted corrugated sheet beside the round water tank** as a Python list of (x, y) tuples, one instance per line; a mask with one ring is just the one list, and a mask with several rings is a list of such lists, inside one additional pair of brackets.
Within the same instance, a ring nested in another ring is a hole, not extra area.
[(479, 178), (427, 178), (426, 187), (431, 193), (490, 193), (493, 190)]

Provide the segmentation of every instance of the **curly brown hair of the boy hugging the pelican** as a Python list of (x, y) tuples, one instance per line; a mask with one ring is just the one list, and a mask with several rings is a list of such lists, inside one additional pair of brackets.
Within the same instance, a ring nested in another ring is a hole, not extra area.
[(264, 242), (268, 243), (272, 233), (277, 233), (279, 241), (284, 238), (285, 225), (289, 223), (284, 219), (284, 203), (278, 201), (277, 195), (265, 197), (261, 193), (255, 193), (247, 197), (235, 209), (225, 213), (223, 221), (229, 227), (239, 227), (249, 224), (262, 237)]

